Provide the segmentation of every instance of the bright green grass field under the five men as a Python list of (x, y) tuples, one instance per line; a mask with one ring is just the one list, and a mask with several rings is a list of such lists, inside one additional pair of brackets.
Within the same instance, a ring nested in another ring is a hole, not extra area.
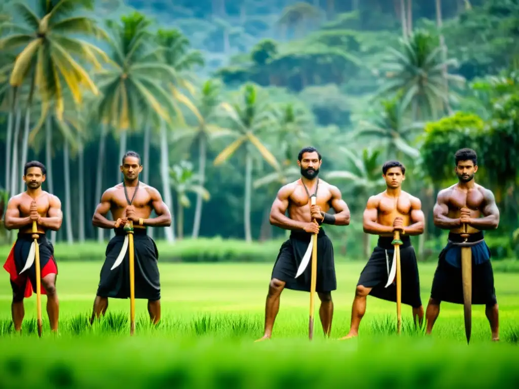
[[(332, 339), (324, 339), (316, 306), (316, 336), (308, 341), (309, 295), (283, 291), (272, 340), (263, 335), (271, 264), (162, 263), (162, 323), (148, 325), (146, 301), (136, 301), (136, 335), (129, 333), (129, 300), (110, 300), (108, 314), (87, 324), (101, 262), (59, 265), (60, 336), (35, 334), (35, 296), (25, 302), (24, 335), (11, 333), (11, 290), (0, 284), (0, 387), (517, 387), (519, 276), (496, 273), (500, 343), (490, 342), (484, 307), (473, 307), (472, 340), (465, 342), (461, 305), (443, 303), (432, 337), (412, 331), (403, 306), (395, 335), (394, 303), (368, 297), (360, 337), (349, 329), (353, 291), (363, 263), (337, 265)], [(434, 264), (420, 265), (427, 304)], [(318, 300), (317, 300), (318, 301)], [(36, 366), (33, 368), (33, 366)]]

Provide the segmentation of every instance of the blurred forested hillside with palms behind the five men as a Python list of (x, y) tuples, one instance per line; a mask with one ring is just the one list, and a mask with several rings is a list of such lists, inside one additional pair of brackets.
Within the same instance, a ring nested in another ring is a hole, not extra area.
[(436, 193), (473, 147), (501, 211), (489, 244), (519, 251), (517, 0), (4, 0), (0, 14), (3, 207), (42, 161), (64, 211), (54, 240), (108, 238), (91, 217), (128, 149), (174, 217), (154, 238), (282, 237), (270, 205), (312, 145), (352, 211), (327, 229), (337, 250), (370, 251), (362, 211), (397, 158), (427, 258), (444, 243)]

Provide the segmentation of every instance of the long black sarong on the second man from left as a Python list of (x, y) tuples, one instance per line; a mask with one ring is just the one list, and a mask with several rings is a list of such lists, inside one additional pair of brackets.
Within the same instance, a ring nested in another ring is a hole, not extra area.
[[(97, 295), (127, 299), (130, 297), (130, 265), (128, 246), (125, 258), (114, 270), (110, 270), (121, 251), (126, 232), (115, 230), (113, 237), (106, 246), (106, 260), (101, 268)], [(133, 251), (135, 269), (135, 298), (156, 301), (160, 299), (160, 278), (157, 266), (158, 250), (146, 230), (135, 228), (133, 232)]]

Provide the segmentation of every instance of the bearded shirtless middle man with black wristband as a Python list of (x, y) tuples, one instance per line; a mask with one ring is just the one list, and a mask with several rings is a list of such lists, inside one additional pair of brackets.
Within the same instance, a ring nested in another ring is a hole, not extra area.
[[(330, 336), (333, 317), (331, 291), (337, 288), (337, 281), (332, 241), (319, 225), (347, 226), (350, 223), (350, 211), (339, 189), (319, 179), (321, 163), (321, 155), (315, 148), (302, 149), (297, 161), (301, 168), (301, 179), (283, 186), (272, 204), (270, 224), (291, 230), (291, 234), (281, 245), (272, 270), (265, 307), (265, 334), (258, 340), (270, 339), (284, 288), (310, 291), (311, 266), (308, 265), (297, 279), (295, 276), (313, 233), (318, 233), (316, 291), (321, 300), (319, 316), (324, 334)], [(316, 205), (311, 206), (310, 197), (314, 195)], [(331, 208), (335, 214), (327, 213)], [(285, 216), (287, 210), (289, 217)], [(318, 223), (312, 221), (313, 218)]]

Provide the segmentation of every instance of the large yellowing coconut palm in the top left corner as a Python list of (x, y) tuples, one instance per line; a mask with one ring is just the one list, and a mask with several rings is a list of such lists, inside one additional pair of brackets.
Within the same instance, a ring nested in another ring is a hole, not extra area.
[[(97, 94), (88, 68), (81, 66), (86, 62), (100, 67), (98, 57), (106, 58), (104, 52), (86, 40), (73, 37), (81, 34), (87, 37), (103, 36), (95, 21), (88, 16), (71, 16), (73, 12), (84, 11), (93, 6), (92, 0), (76, 2), (73, 0), (40, 1), (35, 10), (25, 2), (15, 2), (13, 11), (21, 15), (24, 24), (10, 26), (8, 36), (0, 39), (2, 52), (17, 51), (16, 61), (13, 63), (9, 84), (13, 87), (12, 114), (16, 113), (15, 125), (19, 126), (20, 106), (18, 91), (29, 77), (29, 95), (25, 108), (24, 143), (22, 145), (22, 161), (27, 155), (27, 142), (31, 123), (31, 108), (34, 93), (37, 92), (42, 100), (42, 114), (37, 126), (41, 126), (47, 115), (48, 107), (56, 100), (54, 107), (58, 118), (63, 117), (63, 87), (66, 85), (72, 91), (75, 103), (79, 104), (83, 96), (81, 87), (85, 87)], [(9, 122), (8, 133), (12, 130)], [(15, 133), (17, 128), (15, 128)], [(16, 137), (15, 137), (16, 139)], [(13, 146), (12, 160), (15, 161), (16, 143)], [(13, 168), (16, 162), (13, 162)], [(23, 162), (22, 162), (23, 163)], [(12, 175), (18, 176), (17, 172)], [(11, 177), (13, 182), (13, 177)], [(11, 191), (15, 188), (11, 185)]]

